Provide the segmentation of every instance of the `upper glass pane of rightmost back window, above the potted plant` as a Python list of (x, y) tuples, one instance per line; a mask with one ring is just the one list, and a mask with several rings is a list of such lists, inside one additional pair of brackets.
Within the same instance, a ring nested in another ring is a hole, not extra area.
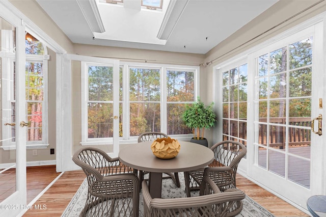
[(169, 102), (195, 100), (194, 72), (167, 71), (167, 100)]

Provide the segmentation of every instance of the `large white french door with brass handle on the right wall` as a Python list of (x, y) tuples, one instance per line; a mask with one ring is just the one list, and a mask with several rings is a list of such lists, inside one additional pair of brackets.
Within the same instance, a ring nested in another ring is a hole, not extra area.
[[(248, 175), (305, 209), (307, 199), (322, 194), (324, 186), (323, 135), (318, 133), (323, 114), (321, 36), (322, 24), (317, 23), (251, 56), (254, 159)], [(318, 116), (312, 129), (311, 120)]]

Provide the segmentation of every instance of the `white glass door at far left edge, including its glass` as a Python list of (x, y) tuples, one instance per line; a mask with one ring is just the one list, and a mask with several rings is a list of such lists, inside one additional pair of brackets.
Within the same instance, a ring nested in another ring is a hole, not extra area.
[(0, 213), (26, 207), (25, 28), (9, 11), (0, 15)]

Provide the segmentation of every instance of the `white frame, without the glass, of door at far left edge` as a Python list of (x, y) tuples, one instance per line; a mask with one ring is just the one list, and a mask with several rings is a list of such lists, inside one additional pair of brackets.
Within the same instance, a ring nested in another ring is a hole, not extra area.
[[(0, 7), (7, 8), (6, 5), (2, 5), (2, 2), (0, 2)], [(5, 205), (5, 209), (1, 209), (2, 214), (13, 216), (19, 215), (26, 204), (26, 127), (19, 126), (21, 121), (26, 122), (25, 26), (9, 10), (4, 9), (0, 16), (16, 28), (16, 192), (0, 203)], [(8, 205), (8, 209), (6, 205)]]

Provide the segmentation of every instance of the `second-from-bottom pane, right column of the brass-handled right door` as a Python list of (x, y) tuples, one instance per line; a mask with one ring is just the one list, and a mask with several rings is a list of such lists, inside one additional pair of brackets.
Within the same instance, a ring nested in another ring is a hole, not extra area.
[(311, 130), (289, 127), (289, 153), (310, 159)]

